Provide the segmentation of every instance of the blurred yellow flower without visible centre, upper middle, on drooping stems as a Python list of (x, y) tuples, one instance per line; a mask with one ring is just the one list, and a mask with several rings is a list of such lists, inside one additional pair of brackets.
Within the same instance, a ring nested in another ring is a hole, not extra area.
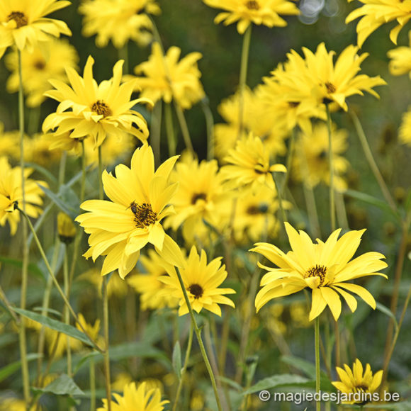
[(135, 85), (141, 90), (142, 97), (154, 103), (160, 99), (166, 103), (174, 100), (184, 109), (191, 108), (204, 97), (201, 72), (197, 65), (201, 53), (192, 52), (179, 61), (180, 55), (179, 47), (170, 47), (163, 55), (159, 43), (153, 43), (147, 62), (134, 68), (137, 75)]

